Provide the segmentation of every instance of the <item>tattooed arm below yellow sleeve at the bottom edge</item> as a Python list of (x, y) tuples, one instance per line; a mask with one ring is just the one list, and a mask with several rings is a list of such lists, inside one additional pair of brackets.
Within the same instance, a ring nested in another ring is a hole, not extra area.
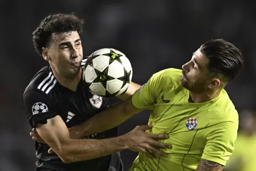
[(221, 171), (222, 169), (223, 166), (221, 164), (215, 163), (214, 161), (201, 159), (196, 171)]

